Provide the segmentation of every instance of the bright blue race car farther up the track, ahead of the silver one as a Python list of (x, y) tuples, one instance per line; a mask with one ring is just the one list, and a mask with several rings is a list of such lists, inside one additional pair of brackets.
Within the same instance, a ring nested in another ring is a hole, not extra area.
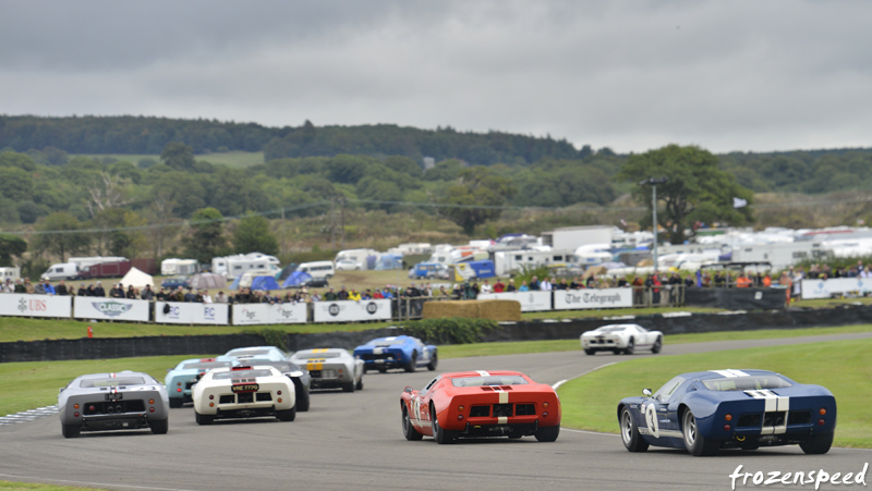
[(417, 367), (427, 367), (427, 370), (435, 370), (439, 364), (436, 346), (408, 335), (372, 340), (355, 347), (354, 357), (363, 360), (364, 373), (367, 370), (384, 373), (389, 368), (415, 371)]

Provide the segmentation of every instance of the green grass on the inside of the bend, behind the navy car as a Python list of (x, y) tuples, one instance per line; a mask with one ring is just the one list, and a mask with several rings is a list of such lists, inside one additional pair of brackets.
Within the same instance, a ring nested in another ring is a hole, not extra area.
[(571, 380), (558, 390), (564, 426), (618, 432), (617, 405), (642, 389), (657, 390), (676, 375), (720, 368), (761, 368), (801, 383), (823, 385), (836, 396), (835, 445), (872, 447), (872, 340), (772, 346), (681, 356), (637, 358)]

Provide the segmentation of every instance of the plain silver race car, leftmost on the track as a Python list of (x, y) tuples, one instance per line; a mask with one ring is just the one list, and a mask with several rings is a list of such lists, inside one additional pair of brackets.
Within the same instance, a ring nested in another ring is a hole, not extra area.
[(80, 376), (58, 394), (61, 432), (66, 438), (82, 431), (150, 428), (169, 429), (167, 388), (148, 373), (121, 371)]

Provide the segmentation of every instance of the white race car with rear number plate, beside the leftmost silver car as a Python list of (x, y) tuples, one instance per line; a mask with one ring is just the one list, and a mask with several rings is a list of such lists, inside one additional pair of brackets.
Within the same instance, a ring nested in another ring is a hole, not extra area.
[(199, 425), (216, 418), (296, 417), (293, 381), (269, 366), (242, 365), (213, 369), (194, 384), (194, 412)]

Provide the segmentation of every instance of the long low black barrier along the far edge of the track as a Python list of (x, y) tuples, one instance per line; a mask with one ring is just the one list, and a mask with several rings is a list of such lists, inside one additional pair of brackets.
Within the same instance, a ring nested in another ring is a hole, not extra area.
[[(666, 335), (691, 332), (834, 327), (872, 323), (872, 306), (844, 306), (816, 310), (788, 309), (768, 312), (693, 315), (675, 312), (665, 316), (621, 317), (620, 319), (501, 322), (496, 330), (485, 333), (483, 341), (578, 339), (583, 332), (600, 326), (621, 322), (635, 322), (647, 329), (663, 331)], [(403, 332), (402, 328), (383, 328), (354, 332), (292, 333), (287, 334), (286, 347), (289, 351), (327, 346), (353, 349), (373, 337), (398, 335)], [(254, 346), (264, 343), (264, 339), (258, 334), (17, 341), (0, 343), (0, 363), (219, 354), (239, 346)]]

